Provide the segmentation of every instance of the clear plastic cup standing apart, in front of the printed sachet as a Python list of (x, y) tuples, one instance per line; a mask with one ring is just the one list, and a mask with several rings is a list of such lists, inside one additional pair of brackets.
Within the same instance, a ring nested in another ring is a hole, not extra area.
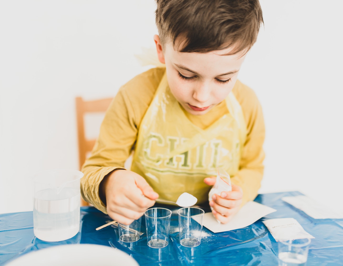
[(309, 238), (279, 241), (279, 266), (305, 266), (310, 243)]

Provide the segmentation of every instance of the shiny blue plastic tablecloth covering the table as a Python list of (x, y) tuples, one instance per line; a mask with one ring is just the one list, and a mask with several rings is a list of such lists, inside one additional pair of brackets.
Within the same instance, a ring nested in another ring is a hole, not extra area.
[[(0, 265), (22, 254), (61, 244), (99, 244), (120, 249), (130, 254), (139, 265), (277, 265), (277, 243), (262, 221), (273, 218), (295, 218), (304, 229), (315, 237), (312, 239), (307, 266), (343, 265), (343, 220), (314, 219), (306, 213), (281, 200), (285, 196), (302, 195), (300, 192), (280, 192), (258, 195), (256, 202), (277, 211), (250, 226), (213, 233), (203, 227), (201, 244), (195, 248), (180, 245), (178, 238), (177, 208), (165, 206), (173, 211), (170, 223), (169, 244), (163, 249), (147, 246), (146, 234), (137, 242), (118, 241), (118, 229), (108, 226), (95, 228), (112, 219), (94, 207), (81, 207), (80, 231), (71, 239), (45, 242), (33, 234), (33, 213), (19, 212), (0, 214)], [(156, 204), (157, 207), (161, 205)], [(202, 206), (205, 212), (209, 206)], [(145, 231), (142, 218), (141, 231)]]

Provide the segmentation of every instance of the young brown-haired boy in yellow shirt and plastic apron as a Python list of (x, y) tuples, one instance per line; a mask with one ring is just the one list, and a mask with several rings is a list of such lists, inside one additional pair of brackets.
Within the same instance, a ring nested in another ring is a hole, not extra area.
[[(153, 68), (123, 85), (111, 103), (91, 157), (82, 196), (130, 224), (158, 199), (188, 192), (207, 202), (216, 169), (232, 191), (214, 195), (227, 223), (253, 200), (263, 175), (264, 122), (251, 89), (237, 80), (262, 20), (258, 0), (157, 0)], [(131, 171), (123, 168), (134, 151)]]

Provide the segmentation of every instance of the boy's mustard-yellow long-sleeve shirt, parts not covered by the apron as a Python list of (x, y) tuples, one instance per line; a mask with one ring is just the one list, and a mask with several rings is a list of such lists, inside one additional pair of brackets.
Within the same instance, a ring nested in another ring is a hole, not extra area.
[[(142, 118), (149, 107), (161, 81), (165, 68), (150, 69), (123, 85), (110, 104), (91, 157), (83, 165), (81, 194), (97, 209), (106, 213), (99, 197), (99, 185), (111, 171), (123, 168), (134, 148)], [(241, 154), (239, 171), (231, 178), (233, 184), (243, 189), (243, 204), (257, 196), (263, 175), (265, 131), (262, 109), (255, 93), (236, 81), (232, 90), (241, 105), (247, 126), (246, 142)], [(227, 112), (223, 101), (208, 113), (194, 116), (184, 111), (188, 119), (205, 129)], [(181, 191), (182, 192), (182, 191)], [(243, 205), (242, 204), (242, 205)]]

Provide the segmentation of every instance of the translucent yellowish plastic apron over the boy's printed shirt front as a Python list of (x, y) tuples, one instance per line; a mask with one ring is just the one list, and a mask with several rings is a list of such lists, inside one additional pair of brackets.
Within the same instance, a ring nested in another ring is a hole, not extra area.
[(203, 130), (184, 114), (164, 74), (142, 119), (131, 166), (161, 199), (176, 202), (188, 192), (203, 203), (211, 189), (205, 177), (217, 168), (230, 176), (238, 171), (246, 124), (234, 94), (225, 101), (229, 112)]

